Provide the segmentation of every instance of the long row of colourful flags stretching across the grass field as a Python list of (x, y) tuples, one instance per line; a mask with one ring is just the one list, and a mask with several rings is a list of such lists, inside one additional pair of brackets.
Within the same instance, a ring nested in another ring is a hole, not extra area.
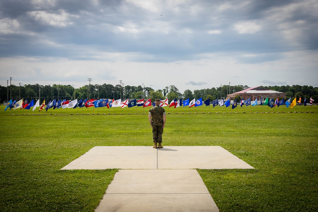
[[(299, 105), (301, 105), (301, 98), (299, 98), (299, 100), (297, 101), (299, 103)], [(309, 105), (312, 106), (314, 102), (314, 99), (310, 98), (309, 100)], [(167, 99), (164, 99), (164, 100), (161, 100), (160, 99), (160, 105), (161, 107), (164, 107), (164, 106), (169, 106), (169, 107), (174, 107), (174, 108), (177, 108), (179, 106), (189, 106), (190, 107), (193, 107), (193, 106), (202, 106), (203, 103), (205, 104), (205, 106), (209, 106), (210, 105), (210, 99), (207, 99), (205, 101), (202, 101), (202, 98), (200, 99), (193, 99), (192, 101), (189, 101), (189, 98), (186, 99), (186, 100), (182, 100), (182, 99), (173, 99), (170, 104), (168, 104), (168, 98)], [(220, 107), (221, 106), (225, 106), (225, 107), (228, 107), (230, 106), (230, 99), (227, 99), (226, 101), (224, 99), (221, 99), (221, 100), (218, 100), (218, 99), (215, 99), (211, 102), (211, 105), (214, 107), (214, 106), (217, 106), (219, 105)], [(244, 100), (243, 98), (240, 100), (239, 102), (240, 106), (242, 107), (244, 104), (246, 106), (249, 106), (249, 105), (252, 105), (252, 106), (256, 106), (258, 105), (258, 101), (257, 101), (257, 98), (255, 99), (255, 101), (251, 102), (251, 98), (249, 99), (246, 99)], [(293, 102), (291, 102), (291, 98), (289, 98), (286, 102), (284, 102), (284, 99), (281, 99), (279, 100), (278, 98), (276, 100), (274, 100), (274, 98), (272, 99), (269, 99), (269, 98), (266, 98), (265, 101), (263, 102), (263, 98), (260, 99), (260, 103), (259, 105), (267, 105), (271, 108), (277, 106), (279, 107), (280, 105), (286, 105), (286, 107), (290, 106), (291, 108), (293, 108), (297, 103), (296, 103), (296, 98), (293, 100)], [(144, 99), (140, 99), (140, 100), (136, 100), (136, 99), (133, 99), (133, 100), (124, 100), (123, 102), (121, 101), (121, 99), (117, 99), (117, 100), (114, 100), (114, 99), (75, 99), (75, 100), (62, 100), (62, 99), (59, 99), (59, 100), (51, 100), (46, 106), (45, 106), (45, 99), (44, 101), (42, 102), (42, 104), (40, 105), (40, 100), (38, 99), (38, 101), (34, 104), (33, 102), (33, 99), (29, 102), (29, 99), (26, 99), (25, 101), (23, 101), (23, 99), (17, 101), (17, 100), (14, 100), (12, 101), (12, 99), (8, 102), (7, 106), (5, 107), (5, 111), (10, 108), (15, 110), (15, 109), (31, 109), (31, 107), (33, 107), (33, 111), (37, 108), (37, 107), (40, 107), (39, 108), (39, 112), (43, 111), (43, 110), (48, 110), (50, 108), (53, 108), (53, 110), (55, 109), (58, 109), (58, 108), (76, 108), (76, 107), (107, 107), (107, 108), (111, 108), (111, 107), (133, 107), (133, 106), (142, 106), (142, 107), (148, 107), (148, 106), (155, 106), (155, 102), (153, 102), (151, 104), (151, 99), (148, 99), (146, 101), (144, 101)], [(304, 100), (304, 106), (307, 105), (307, 99), (305, 98)], [(232, 109), (234, 109), (235, 107), (237, 107), (237, 100), (235, 100), (232, 104)]]

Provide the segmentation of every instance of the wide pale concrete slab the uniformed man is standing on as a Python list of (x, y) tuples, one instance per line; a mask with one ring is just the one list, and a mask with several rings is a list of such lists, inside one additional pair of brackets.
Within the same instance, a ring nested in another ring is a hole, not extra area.
[(61, 169), (253, 168), (220, 146), (96, 146)]

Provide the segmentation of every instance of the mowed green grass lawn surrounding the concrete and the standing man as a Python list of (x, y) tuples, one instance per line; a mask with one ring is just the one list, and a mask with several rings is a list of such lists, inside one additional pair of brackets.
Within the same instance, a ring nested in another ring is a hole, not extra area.
[[(217, 145), (255, 168), (198, 169), (220, 211), (317, 211), (318, 106), (230, 107), (164, 107), (163, 146)], [(0, 211), (93, 211), (117, 170), (60, 169), (94, 146), (151, 148), (149, 109), (0, 106)]]

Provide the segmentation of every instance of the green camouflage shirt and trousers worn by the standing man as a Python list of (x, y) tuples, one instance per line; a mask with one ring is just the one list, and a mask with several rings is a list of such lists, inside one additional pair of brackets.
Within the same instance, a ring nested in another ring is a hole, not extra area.
[(152, 137), (154, 139), (154, 142), (161, 143), (162, 142), (162, 133), (163, 133), (163, 118), (162, 115), (166, 114), (166, 111), (160, 107), (159, 105), (156, 105), (152, 107), (149, 110), (149, 114), (151, 114), (152, 117)]

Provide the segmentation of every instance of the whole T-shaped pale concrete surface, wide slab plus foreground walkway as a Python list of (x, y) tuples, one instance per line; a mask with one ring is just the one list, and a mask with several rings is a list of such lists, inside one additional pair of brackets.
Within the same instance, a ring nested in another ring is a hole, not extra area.
[[(219, 211), (195, 168), (253, 168), (219, 146), (93, 147), (62, 169), (119, 168), (100, 211)], [(126, 170), (125, 170), (126, 169)]]

